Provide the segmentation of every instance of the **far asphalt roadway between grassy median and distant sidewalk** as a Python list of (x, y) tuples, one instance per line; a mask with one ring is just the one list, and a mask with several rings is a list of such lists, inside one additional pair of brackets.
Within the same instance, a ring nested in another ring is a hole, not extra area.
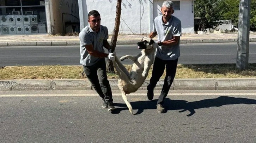
[[(136, 45), (117, 45), (116, 54), (137, 55)], [(179, 64), (236, 63), (236, 43), (182, 44)], [(79, 46), (0, 47), (0, 66), (80, 65)], [(130, 60), (123, 64), (132, 64)], [(249, 63), (256, 63), (256, 43), (250, 43)]]

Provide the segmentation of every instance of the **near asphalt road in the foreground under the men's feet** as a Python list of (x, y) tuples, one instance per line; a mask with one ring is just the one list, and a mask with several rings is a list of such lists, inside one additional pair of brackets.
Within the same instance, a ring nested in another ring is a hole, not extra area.
[(136, 115), (129, 113), (121, 96), (114, 96), (117, 109), (110, 112), (101, 108), (102, 101), (94, 95), (1, 93), (0, 142), (256, 142), (256, 96), (246, 95), (250, 91), (236, 96), (239, 90), (223, 95), (200, 90), (193, 91), (197, 93), (193, 96), (170, 92), (177, 94), (167, 96), (164, 114), (156, 111), (157, 96), (153, 101), (145, 95), (128, 96)]

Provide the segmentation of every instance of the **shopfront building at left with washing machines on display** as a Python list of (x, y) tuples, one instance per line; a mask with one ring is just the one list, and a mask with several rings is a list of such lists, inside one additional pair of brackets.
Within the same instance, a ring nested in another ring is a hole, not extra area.
[(78, 0), (0, 0), (0, 35), (67, 33), (75, 25)]

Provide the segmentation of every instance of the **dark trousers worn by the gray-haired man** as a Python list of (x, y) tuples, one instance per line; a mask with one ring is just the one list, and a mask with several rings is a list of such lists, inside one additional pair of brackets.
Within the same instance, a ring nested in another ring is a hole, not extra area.
[(159, 81), (160, 77), (163, 75), (164, 69), (166, 67), (166, 76), (164, 78), (164, 85), (163, 85), (161, 94), (157, 101), (158, 104), (163, 104), (164, 99), (169, 92), (169, 89), (171, 87), (171, 84), (176, 74), (177, 63), (178, 63), (178, 59), (166, 61), (166, 60), (161, 60), (158, 57), (155, 58), (152, 77), (150, 79), (150, 83), (147, 86), (147, 90), (153, 90), (156, 87), (157, 82)]

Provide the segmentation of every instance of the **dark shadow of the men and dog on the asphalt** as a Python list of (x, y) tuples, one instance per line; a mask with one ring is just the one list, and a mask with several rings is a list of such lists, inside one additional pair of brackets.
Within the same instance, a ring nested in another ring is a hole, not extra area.
[[(157, 99), (152, 101), (137, 101), (130, 102), (134, 110), (138, 110), (134, 115), (141, 114), (146, 109), (156, 109)], [(188, 102), (185, 100), (170, 100), (170, 98), (165, 98), (165, 109), (168, 110), (181, 110), (179, 113), (184, 111), (189, 111), (190, 114), (187, 116), (192, 116), (195, 114), (195, 109), (209, 108), (209, 107), (220, 107), (222, 105), (232, 105), (232, 104), (256, 104), (256, 100), (248, 98), (236, 98), (229, 96), (220, 96), (218, 98), (205, 99), (200, 101)], [(116, 108), (111, 113), (119, 114), (122, 110), (128, 110), (126, 104), (115, 103)]]

